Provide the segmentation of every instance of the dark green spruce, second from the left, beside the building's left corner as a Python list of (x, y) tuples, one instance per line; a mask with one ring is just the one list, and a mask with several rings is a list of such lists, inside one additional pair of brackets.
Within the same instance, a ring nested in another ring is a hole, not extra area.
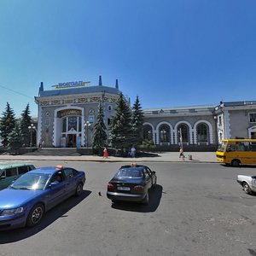
[(30, 131), (28, 130), (28, 126), (31, 125), (32, 118), (30, 116), (29, 104), (26, 105), (26, 108), (21, 113), (20, 119), (20, 141), (22, 144), (26, 146), (30, 143)]

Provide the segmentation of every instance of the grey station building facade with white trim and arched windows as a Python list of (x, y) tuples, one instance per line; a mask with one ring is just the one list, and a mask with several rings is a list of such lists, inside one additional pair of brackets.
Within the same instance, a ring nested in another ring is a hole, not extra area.
[[(105, 86), (101, 76), (96, 86), (79, 81), (44, 90), (41, 83), (35, 97), (38, 143), (44, 147), (91, 147), (99, 102), (108, 128), (119, 93), (118, 80), (114, 87)], [(256, 138), (256, 101), (143, 109), (143, 114), (143, 138), (153, 140), (159, 149), (177, 150), (182, 144), (188, 150), (214, 150), (224, 138)]]

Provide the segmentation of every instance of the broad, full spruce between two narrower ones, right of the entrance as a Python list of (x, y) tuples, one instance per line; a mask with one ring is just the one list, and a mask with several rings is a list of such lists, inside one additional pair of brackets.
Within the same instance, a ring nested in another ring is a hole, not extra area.
[(119, 95), (115, 114), (111, 119), (110, 143), (114, 148), (129, 148), (134, 143), (131, 108), (122, 93)]

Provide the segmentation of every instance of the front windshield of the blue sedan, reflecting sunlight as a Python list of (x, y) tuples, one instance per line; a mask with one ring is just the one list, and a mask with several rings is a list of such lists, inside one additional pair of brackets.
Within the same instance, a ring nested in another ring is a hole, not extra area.
[(12, 189), (42, 190), (50, 175), (45, 173), (27, 172), (19, 177), (9, 187)]

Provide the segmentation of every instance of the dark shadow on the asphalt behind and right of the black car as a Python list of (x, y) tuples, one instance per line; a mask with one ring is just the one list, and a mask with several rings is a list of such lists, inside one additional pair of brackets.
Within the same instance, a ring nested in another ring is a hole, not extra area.
[(117, 210), (129, 212), (155, 212), (160, 205), (162, 193), (163, 187), (157, 184), (155, 188), (150, 191), (148, 205), (143, 205), (137, 202), (119, 201), (114, 202), (112, 207)]

